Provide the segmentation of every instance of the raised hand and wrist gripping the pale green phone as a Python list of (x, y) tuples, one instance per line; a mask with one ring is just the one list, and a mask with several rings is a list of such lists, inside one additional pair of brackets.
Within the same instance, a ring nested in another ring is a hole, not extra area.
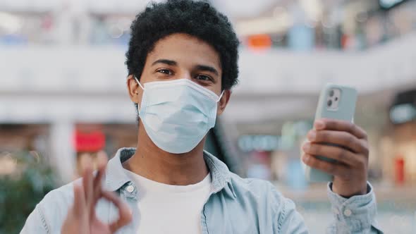
[[(334, 176), (332, 190), (343, 197), (367, 194), (367, 133), (354, 123), (320, 119), (302, 145), (302, 161)], [(331, 144), (331, 145), (329, 145)], [(329, 162), (317, 159), (324, 156)]]

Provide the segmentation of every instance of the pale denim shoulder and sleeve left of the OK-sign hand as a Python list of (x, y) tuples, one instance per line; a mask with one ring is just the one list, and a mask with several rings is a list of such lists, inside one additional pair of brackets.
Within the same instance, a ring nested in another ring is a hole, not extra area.
[(23, 230), (27, 230), (27, 233), (39, 229), (46, 233), (59, 233), (68, 209), (73, 203), (73, 183), (79, 183), (78, 181), (75, 180), (48, 192), (27, 217)]

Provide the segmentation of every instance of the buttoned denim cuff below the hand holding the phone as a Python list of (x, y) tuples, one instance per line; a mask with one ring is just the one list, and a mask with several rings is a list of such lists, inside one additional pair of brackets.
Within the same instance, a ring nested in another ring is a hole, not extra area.
[(377, 202), (370, 183), (367, 183), (366, 195), (348, 199), (333, 192), (332, 183), (328, 183), (327, 192), (334, 221), (326, 233), (383, 233), (375, 221)]

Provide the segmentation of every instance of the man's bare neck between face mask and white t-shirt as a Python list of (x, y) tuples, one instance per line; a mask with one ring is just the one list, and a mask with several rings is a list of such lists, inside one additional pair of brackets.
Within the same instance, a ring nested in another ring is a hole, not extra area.
[(203, 157), (205, 138), (190, 152), (171, 154), (152, 142), (141, 121), (137, 135), (137, 150), (123, 164), (127, 170), (168, 185), (192, 185), (207, 176), (208, 168)]

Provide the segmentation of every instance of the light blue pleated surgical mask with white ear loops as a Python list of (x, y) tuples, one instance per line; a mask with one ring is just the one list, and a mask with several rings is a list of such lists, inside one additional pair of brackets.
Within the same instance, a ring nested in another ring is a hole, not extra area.
[(147, 135), (160, 149), (182, 154), (194, 149), (213, 128), (217, 102), (211, 90), (187, 79), (147, 82), (142, 87), (140, 120)]

